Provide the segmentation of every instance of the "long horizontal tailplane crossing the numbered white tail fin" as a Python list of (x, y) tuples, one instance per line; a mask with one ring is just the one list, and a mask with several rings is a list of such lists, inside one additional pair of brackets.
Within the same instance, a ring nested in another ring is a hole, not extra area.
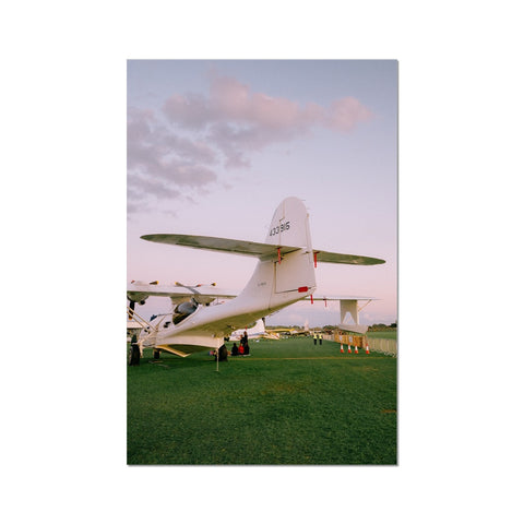
[[(202, 237), (196, 235), (156, 234), (143, 235), (144, 240), (158, 243), (170, 243), (171, 246), (183, 246), (186, 248), (205, 249), (209, 251), (222, 251), (225, 253), (242, 254), (245, 257), (264, 258), (275, 254), (279, 249), (282, 255), (301, 249), (300, 246), (279, 246), (275, 243), (251, 242), (248, 240), (235, 240), (231, 238)], [(332, 264), (356, 264), (376, 265), (383, 264), (385, 260), (361, 257), (358, 254), (331, 253), (313, 249), (317, 262), (329, 262)]]

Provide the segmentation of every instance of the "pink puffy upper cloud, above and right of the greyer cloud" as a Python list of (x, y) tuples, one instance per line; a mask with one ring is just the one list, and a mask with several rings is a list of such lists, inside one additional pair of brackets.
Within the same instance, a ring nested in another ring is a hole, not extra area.
[(207, 97), (175, 94), (163, 110), (174, 126), (202, 133), (222, 153), (226, 167), (249, 167), (250, 153), (306, 135), (315, 127), (347, 133), (371, 118), (371, 111), (354, 97), (335, 100), (327, 108), (315, 103), (301, 106), (216, 75)]

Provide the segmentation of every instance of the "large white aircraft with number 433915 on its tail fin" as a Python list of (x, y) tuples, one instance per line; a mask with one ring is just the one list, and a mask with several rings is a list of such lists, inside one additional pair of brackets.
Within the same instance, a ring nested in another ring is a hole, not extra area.
[[(290, 196), (276, 209), (264, 243), (228, 238), (189, 235), (144, 235), (144, 240), (184, 246), (188, 248), (222, 251), (255, 257), (259, 263), (243, 290), (236, 294), (218, 289), (214, 284), (204, 286), (159, 286), (157, 283), (132, 282), (128, 286), (130, 309), (134, 302), (144, 303), (148, 296), (170, 297), (171, 317), (157, 330), (154, 347), (187, 357), (201, 350), (218, 349), (224, 337), (234, 331), (251, 326), (261, 318), (278, 311), (298, 300), (314, 298), (317, 262), (374, 265), (385, 261), (355, 254), (331, 253), (313, 249), (309, 230), (309, 215), (303, 203)], [(358, 324), (358, 300), (362, 297), (337, 297), (343, 315), (349, 312), (355, 325), (352, 331), (362, 332)], [(366, 298), (370, 300), (369, 298)]]

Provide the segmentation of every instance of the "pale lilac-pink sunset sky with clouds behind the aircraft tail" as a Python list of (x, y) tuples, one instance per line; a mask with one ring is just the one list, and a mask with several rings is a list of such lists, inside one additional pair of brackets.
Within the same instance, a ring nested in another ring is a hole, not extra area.
[[(360, 322), (394, 322), (395, 60), (128, 61), (128, 279), (241, 290), (254, 259), (140, 236), (264, 241), (286, 196), (303, 200), (317, 249), (386, 260), (319, 264), (317, 294), (377, 297)], [(152, 298), (139, 311), (169, 305)], [(337, 311), (298, 303), (267, 323), (335, 323)]]

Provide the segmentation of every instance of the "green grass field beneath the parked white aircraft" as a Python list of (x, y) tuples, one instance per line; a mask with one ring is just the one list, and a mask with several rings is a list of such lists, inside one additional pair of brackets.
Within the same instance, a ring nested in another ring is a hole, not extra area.
[[(128, 464), (396, 464), (396, 359), (311, 338), (128, 367)], [(230, 348), (230, 344), (228, 344)]]

